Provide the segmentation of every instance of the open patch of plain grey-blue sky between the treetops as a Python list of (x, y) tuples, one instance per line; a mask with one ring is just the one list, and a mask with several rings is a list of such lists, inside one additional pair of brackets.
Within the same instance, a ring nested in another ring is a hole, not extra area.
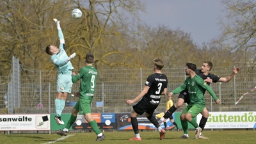
[(152, 27), (159, 24), (190, 33), (196, 44), (209, 42), (220, 35), (219, 18), (225, 13), (220, 0), (144, 0), (147, 13), (141, 20)]

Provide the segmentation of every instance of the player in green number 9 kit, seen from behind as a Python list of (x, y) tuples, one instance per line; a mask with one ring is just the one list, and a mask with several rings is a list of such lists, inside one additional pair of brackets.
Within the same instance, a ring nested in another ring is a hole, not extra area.
[(96, 81), (98, 72), (93, 67), (94, 56), (92, 53), (86, 54), (85, 63), (86, 67), (82, 67), (79, 70), (79, 73), (72, 72), (72, 82), (76, 83), (79, 79), (81, 79), (79, 93), (76, 93), (76, 96), (79, 96), (79, 100), (72, 109), (72, 115), (68, 120), (68, 124), (65, 129), (57, 134), (61, 136), (67, 136), (68, 129), (74, 124), (76, 121), (77, 113), (80, 115), (84, 115), (86, 121), (91, 125), (93, 131), (97, 134), (96, 141), (102, 141), (105, 139), (104, 134), (100, 131), (96, 121), (92, 118), (91, 115), (91, 106), (93, 100), (93, 95), (96, 88)]

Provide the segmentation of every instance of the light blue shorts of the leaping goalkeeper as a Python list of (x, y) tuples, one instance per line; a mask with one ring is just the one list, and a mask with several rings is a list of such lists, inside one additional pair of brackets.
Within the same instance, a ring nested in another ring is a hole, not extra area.
[(70, 72), (71, 71), (68, 71), (66, 74), (58, 74), (57, 92), (71, 93), (73, 83)]

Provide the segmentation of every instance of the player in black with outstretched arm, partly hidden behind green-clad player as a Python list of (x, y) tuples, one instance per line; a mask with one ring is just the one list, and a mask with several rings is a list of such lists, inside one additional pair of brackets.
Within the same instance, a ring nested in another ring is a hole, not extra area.
[[(232, 74), (230, 74), (230, 76), (219, 77), (219, 76), (209, 73), (211, 68), (212, 68), (211, 61), (204, 61), (203, 65), (201, 67), (201, 70), (196, 70), (196, 74), (198, 76), (202, 77), (202, 79), (204, 79), (204, 81), (207, 82), (208, 85), (211, 83), (217, 83), (217, 82), (228, 83), (240, 70), (240, 68), (237, 67), (237, 68), (234, 68), (234, 70), (233, 70)], [(189, 102), (190, 102), (187, 89), (180, 92), (178, 101), (164, 114), (163, 118), (161, 118), (159, 120), (159, 124), (162, 124), (163, 120), (165, 118), (168, 118), (169, 115), (172, 115), (176, 111), (176, 109), (180, 108), (180, 106), (182, 106), (182, 104), (184, 104), (184, 102), (186, 102), (187, 104), (189, 104)], [(209, 111), (207, 111), (206, 107), (204, 108), (204, 110), (202, 111), (201, 114), (202, 114), (202, 118), (200, 120), (199, 127), (201, 127), (202, 130), (204, 130), (205, 124), (209, 117)], [(181, 138), (188, 138), (188, 136), (182, 136)], [(198, 138), (207, 139), (206, 137), (204, 137), (202, 135), (202, 132), (200, 133), (200, 136)]]

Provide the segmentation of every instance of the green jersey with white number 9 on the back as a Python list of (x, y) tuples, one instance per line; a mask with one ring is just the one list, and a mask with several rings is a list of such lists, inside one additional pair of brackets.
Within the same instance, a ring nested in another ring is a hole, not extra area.
[(76, 83), (81, 79), (79, 88), (79, 99), (92, 100), (94, 92), (96, 90), (98, 72), (97, 70), (89, 65), (87, 67), (82, 67), (76, 76), (72, 75), (72, 82)]

